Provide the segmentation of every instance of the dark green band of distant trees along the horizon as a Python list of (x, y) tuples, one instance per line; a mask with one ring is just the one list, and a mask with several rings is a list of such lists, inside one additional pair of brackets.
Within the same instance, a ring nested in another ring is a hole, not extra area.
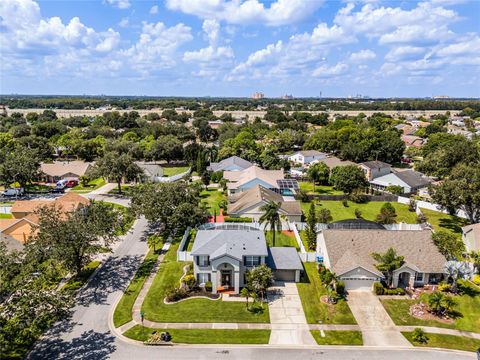
[(128, 96), (0, 96), (0, 104), (11, 109), (97, 109), (112, 106), (118, 109), (201, 108), (211, 110), (256, 110), (258, 106), (296, 111), (399, 111), (399, 110), (480, 110), (480, 100), (473, 99), (260, 99), (248, 98), (174, 98)]

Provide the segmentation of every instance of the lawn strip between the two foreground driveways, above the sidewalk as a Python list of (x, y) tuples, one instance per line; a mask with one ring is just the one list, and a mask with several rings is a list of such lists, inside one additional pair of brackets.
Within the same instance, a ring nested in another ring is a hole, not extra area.
[(309, 324), (356, 324), (345, 300), (336, 305), (325, 304), (320, 300), (327, 293), (320, 281), (315, 263), (304, 263), (306, 276), (297, 283), (303, 311)]

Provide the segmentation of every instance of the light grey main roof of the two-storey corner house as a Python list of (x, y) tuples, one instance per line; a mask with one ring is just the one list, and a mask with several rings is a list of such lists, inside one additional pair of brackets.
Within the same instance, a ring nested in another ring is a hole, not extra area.
[(260, 230), (198, 230), (191, 254), (210, 256), (210, 260), (230, 256), (239, 261), (245, 255), (268, 255)]

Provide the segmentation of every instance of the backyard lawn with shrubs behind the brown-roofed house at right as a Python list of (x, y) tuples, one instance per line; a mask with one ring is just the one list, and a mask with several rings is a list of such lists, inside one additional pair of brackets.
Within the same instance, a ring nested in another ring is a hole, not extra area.
[[(380, 201), (370, 201), (365, 204), (356, 204), (352, 201), (348, 201), (348, 207), (345, 207), (341, 201), (325, 200), (320, 201), (319, 205), (317, 205), (315, 208), (317, 211), (320, 211), (322, 208), (329, 209), (332, 214), (333, 221), (354, 219), (355, 209), (359, 209), (362, 212), (362, 217), (364, 219), (375, 221), (383, 204), (385, 203)], [(417, 215), (415, 212), (408, 211), (408, 205), (399, 204), (396, 202), (392, 202), (391, 204), (395, 207), (397, 212), (397, 222), (404, 221), (408, 224), (416, 223)], [(302, 202), (301, 205), (303, 212), (307, 214), (308, 209), (310, 208), (310, 203)]]

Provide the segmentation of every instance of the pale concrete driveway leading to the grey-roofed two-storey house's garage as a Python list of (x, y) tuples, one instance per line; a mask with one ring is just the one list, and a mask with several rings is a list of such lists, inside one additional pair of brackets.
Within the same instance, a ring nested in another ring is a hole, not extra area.
[(295, 283), (277, 283), (268, 291), (269, 344), (316, 345), (310, 333)]

